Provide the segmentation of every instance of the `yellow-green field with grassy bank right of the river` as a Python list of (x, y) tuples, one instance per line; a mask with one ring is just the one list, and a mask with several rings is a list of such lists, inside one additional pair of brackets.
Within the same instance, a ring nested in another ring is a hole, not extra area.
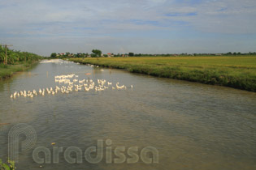
[(256, 91), (256, 57), (100, 57), (72, 62)]

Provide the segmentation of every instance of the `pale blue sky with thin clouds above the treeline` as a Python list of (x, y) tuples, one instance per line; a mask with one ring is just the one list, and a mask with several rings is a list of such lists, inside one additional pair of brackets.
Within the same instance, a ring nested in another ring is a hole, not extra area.
[(256, 51), (255, 0), (1, 0), (0, 43), (50, 53)]

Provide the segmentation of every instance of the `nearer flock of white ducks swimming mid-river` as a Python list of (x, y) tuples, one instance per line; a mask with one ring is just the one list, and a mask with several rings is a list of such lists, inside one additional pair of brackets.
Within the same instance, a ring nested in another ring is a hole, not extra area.
[[(76, 74), (67, 74), (67, 75), (57, 75), (54, 77), (55, 83), (59, 83), (59, 86), (56, 85), (55, 88), (40, 88), (38, 91), (35, 89), (33, 91), (15, 91), (11, 94), (11, 99), (16, 99), (17, 97), (30, 97), (34, 96), (46, 96), (52, 95), (54, 96), (57, 93), (68, 94), (72, 91), (104, 91), (106, 89), (112, 90), (126, 90), (128, 87), (125, 85), (119, 86), (119, 82), (115, 85), (112, 85), (111, 82), (106, 81), (106, 79), (97, 79), (97, 82), (93, 82), (92, 79), (78, 79), (78, 75)], [(131, 85), (129, 88), (133, 88)]]

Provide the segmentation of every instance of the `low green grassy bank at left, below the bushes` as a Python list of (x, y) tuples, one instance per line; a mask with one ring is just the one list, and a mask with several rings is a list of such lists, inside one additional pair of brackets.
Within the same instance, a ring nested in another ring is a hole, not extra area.
[(13, 74), (32, 69), (33, 66), (36, 66), (38, 62), (33, 63), (25, 63), (25, 62), (19, 62), (15, 65), (0, 65), (0, 81), (3, 79), (10, 78)]

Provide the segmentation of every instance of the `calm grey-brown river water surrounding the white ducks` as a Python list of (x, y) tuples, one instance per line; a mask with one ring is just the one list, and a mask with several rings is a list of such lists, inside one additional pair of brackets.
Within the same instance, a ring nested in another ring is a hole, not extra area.
[[(10, 98), (15, 91), (55, 87), (55, 75), (72, 73), (77, 79), (106, 79), (128, 88)], [(37, 132), (36, 145), (20, 153), (18, 169), (256, 169), (254, 92), (60, 61), (40, 63), (1, 82), (0, 101), (0, 158), (7, 159), (13, 125), (26, 123)], [(85, 150), (97, 146), (98, 139), (104, 141), (103, 159), (89, 164)], [(107, 139), (112, 164), (106, 164)], [(83, 163), (68, 164), (62, 153), (59, 164), (37, 164), (32, 156), (37, 147), (51, 154), (53, 147), (79, 147)], [(141, 149), (154, 147), (158, 164), (145, 164), (141, 157), (136, 164), (114, 164), (116, 147), (125, 147), (126, 158), (129, 147), (138, 147), (139, 157)]]

